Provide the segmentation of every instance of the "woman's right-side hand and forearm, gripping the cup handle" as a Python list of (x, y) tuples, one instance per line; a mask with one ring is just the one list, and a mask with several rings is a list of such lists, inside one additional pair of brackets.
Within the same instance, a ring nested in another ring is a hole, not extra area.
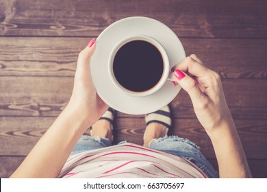
[(190, 95), (196, 117), (212, 141), (220, 178), (251, 178), (218, 73), (207, 69), (199, 58), (191, 55), (177, 64), (175, 76)]

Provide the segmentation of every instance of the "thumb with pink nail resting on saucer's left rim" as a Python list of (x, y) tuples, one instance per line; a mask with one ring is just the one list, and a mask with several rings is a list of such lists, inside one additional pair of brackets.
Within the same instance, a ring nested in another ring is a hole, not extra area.
[(96, 49), (96, 42), (94, 38), (92, 38), (92, 40), (90, 40), (86, 48), (81, 50), (81, 52), (79, 53), (76, 73), (83, 73), (84, 71), (86, 72), (90, 71), (90, 58), (94, 54), (95, 49)]

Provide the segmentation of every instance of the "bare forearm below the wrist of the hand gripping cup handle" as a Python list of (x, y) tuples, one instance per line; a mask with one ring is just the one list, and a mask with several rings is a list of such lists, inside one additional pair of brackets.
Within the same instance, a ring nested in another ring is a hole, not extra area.
[(220, 178), (251, 178), (242, 143), (232, 119), (209, 134), (218, 160)]

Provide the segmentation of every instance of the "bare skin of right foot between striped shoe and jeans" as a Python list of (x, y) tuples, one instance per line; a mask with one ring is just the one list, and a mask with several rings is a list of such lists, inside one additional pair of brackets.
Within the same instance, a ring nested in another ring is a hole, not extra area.
[(160, 123), (150, 123), (144, 131), (144, 147), (149, 147), (152, 139), (166, 136), (168, 128)]

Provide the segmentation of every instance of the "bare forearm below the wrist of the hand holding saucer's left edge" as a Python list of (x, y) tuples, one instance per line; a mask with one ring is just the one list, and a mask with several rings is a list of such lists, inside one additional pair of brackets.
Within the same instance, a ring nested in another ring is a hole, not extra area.
[(67, 106), (11, 178), (57, 178), (87, 125), (86, 117)]

